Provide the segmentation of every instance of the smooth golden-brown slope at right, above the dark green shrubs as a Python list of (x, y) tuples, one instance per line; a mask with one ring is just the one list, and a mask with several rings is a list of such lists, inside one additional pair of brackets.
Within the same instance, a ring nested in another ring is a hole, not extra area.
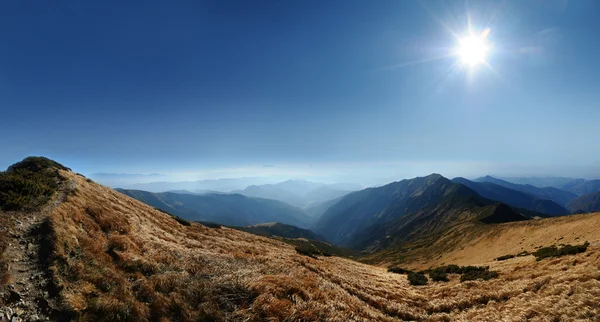
[(389, 249), (366, 258), (378, 264), (430, 267), (443, 263), (461, 265), (493, 261), (503, 255), (532, 252), (560, 244), (600, 245), (600, 213), (528, 221), (479, 224), (463, 223), (443, 234), (428, 236), (403, 248)]

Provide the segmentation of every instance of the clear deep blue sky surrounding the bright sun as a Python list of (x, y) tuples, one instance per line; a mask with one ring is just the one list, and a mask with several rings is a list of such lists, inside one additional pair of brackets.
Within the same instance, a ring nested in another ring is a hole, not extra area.
[[(0, 167), (598, 177), (599, 14), (593, 0), (2, 1)], [(489, 28), (473, 68), (448, 55), (469, 17)]]

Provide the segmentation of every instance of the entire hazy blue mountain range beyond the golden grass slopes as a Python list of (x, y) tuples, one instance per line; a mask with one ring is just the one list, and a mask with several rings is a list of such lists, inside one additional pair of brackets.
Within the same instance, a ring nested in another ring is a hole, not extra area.
[(594, 196), (491, 176), (470, 181), (432, 174), (354, 192), (344, 188), (357, 187), (288, 180), (231, 194), (119, 191), (187, 220), (255, 226), (246, 231), (290, 236), (290, 227), (265, 224), (277, 222), (312, 229), (297, 235), (318, 234), (321, 240), (370, 253), (464, 222), (501, 223), (600, 210)]

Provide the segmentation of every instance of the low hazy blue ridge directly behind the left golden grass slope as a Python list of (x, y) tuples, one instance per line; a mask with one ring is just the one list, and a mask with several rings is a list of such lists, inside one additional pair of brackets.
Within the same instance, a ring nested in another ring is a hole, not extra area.
[(240, 194), (194, 195), (123, 189), (117, 191), (187, 220), (215, 222), (228, 226), (277, 221), (306, 228), (311, 224), (310, 217), (302, 209), (277, 200), (250, 198)]

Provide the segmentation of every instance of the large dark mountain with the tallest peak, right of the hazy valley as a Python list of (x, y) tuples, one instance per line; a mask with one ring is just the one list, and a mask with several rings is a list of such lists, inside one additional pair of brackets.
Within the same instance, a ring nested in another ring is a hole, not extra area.
[[(334, 244), (369, 251), (495, 213), (497, 202), (432, 174), (351, 193), (316, 224)], [(524, 220), (512, 209), (501, 221)]]

